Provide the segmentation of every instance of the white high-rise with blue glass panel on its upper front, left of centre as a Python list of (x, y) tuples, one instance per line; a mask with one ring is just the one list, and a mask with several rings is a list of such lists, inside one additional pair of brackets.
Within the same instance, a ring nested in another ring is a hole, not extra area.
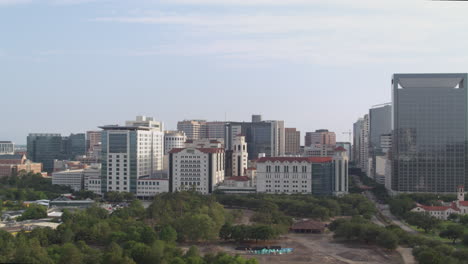
[(103, 126), (101, 190), (137, 193), (137, 180), (163, 169), (159, 127)]

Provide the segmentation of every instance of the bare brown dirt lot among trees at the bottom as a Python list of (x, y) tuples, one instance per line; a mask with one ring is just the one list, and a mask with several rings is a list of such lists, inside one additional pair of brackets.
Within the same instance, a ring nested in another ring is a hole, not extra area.
[[(230, 254), (240, 254), (244, 257), (255, 257), (261, 264), (401, 264), (402, 257), (397, 252), (386, 252), (377, 247), (362, 244), (337, 243), (331, 234), (288, 234), (280, 240), (269, 243), (282, 247), (294, 248), (288, 255), (251, 255), (234, 250), (235, 245), (221, 243), (218, 245), (198, 245), (203, 253), (224, 251)], [(264, 245), (259, 243), (259, 245)]]

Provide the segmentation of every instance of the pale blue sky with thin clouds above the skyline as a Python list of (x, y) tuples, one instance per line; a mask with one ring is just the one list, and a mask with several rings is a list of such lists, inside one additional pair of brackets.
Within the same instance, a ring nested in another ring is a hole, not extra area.
[(468, 72), (468, 2), (0, 0), (0, 140), (153, 116), (338, 140), (393, 73)]

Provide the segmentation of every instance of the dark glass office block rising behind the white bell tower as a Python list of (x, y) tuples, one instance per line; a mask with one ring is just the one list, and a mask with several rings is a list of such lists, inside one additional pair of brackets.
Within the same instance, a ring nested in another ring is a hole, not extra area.
[(233, 140), (239, 134), (245, 136), (250, 159), (258, 158), (260, 153), (269, 157), (284, 155), (284, 121), (227, 123), (224, 140), (226, 150), (232, 150)]

